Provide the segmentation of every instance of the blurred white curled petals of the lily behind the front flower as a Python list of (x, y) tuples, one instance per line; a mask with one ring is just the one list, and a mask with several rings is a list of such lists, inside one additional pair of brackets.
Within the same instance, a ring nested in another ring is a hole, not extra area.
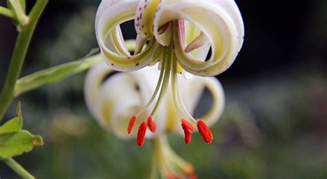
[[(155, 91), (156, 81), (159, 77), (157, 67), (147, 67), (136, 72), (118, 73), (115, 72), (105, 63), (99, 64), (88, 72), (85, 83), (86, 104), (90, 112), (105, 129), (114, 132), (120, 138), (135, 137), (136, 131), (132, 131), (132, 135), (128, 135), (126, 126), (130, 116), (137, 114), (146, 101), (149, 101), (151, 95)], [(109, 78), (108, 75), (112, 75)], [(186, 81), (179, 78), (181, 89), (181, 99), (188, 101), (186, 109), (193, 112), (199, 103), (202, 92), (208, 88), (213, 103), (210, 111), (202, 119), (212, 125), (219, 119), (224, 108), (224, 91), (219, 81), (214, 77), (192, 78)], [(168, 91), (171, 94), (172, 91)], [(179, 114), (175, 110), (172, 95), (166, 96), (163, 101), (163, 107), (158, 109), (154, 116), (157, 121), (157, 130), (155, 133), (146, 132), (146, 137), (154, 138), (162, 136), (166, 132), (176, 132), (183, 134), (182, 127), (179, 123)], [(146, 118), (150, 114), (148, 106), (139, 118)], [(137, 125), (141, 124), (141, 120), (137, 121)]]

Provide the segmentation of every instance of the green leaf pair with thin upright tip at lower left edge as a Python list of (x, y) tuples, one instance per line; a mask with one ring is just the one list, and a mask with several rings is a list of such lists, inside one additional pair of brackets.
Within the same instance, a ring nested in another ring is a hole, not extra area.
[(0, 127), (0, 158), (6, 159), (32, 150), (34, 145), (43, 145), (41, 136), (22, 130), (20, 103), (17, 105), (17, 117)]

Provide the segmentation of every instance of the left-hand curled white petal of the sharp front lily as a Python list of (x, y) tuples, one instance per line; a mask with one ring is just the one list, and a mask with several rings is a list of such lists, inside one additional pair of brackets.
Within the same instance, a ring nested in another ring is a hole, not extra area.
[(152, 61), (157, 42), (151, 40), (140, 53), (130, 56), (123, 45), (119, 24), (135, 18), (139, 1), (102, 1), (95, 21), (97, 41), (106, 63), (115, 70), (139, 70)]

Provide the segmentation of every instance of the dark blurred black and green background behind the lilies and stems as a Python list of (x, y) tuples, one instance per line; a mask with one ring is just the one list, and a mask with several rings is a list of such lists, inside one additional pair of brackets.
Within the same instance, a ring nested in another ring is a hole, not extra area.
[[(22, 74), (75, 61), (97, 47), (100, 1), (51, 1), (32, 39)], [(34, 1), (27, 1), (32, 5)], [(0, 1), (3, 6), (5, 1)], [(195, 135), (170, 144), (195, 165), (199, 178), (327, 177), (327, 1), (237, 0), (245, 41), (237, 60), (217, 76), (226, 109), (213, 127), (215, 140)], [(132, 23), (123, 25), (134, 39)], [(0, 87), (17, 32), (0, 17)], [(147, 178), (150, 143), (119, 140), (92, 118), (83, 99), (85, 73), (23, 94), (24, 129), (44, 145), (15, 159), (37, 178)], [(210, 107), (205, 95), (200, 103)], [(198, 110), (201, 113), (201, 109)], [(18, 178), (0, 162), (0, 178)]]

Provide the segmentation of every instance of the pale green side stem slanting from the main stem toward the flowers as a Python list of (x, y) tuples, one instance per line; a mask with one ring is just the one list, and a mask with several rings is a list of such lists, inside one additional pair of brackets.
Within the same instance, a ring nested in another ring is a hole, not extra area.
[(42, 85), (62, 80), (63, 78), (67, 78), (73, 74), (83, 72), (84, 70), (88, 70), (89, 67), (101, 63), (102, 61), (103, 59), (101, 58), (101, 55), (96, 54), (93, 56), (86, 56), (79, 61), (58, 65), (56, 67), (51, 67), (46, 70), (35, 72), (34, 74), (24, 76), (17, 81), (14, 87), (14, 96), (18, 96), (23, 92), (27, 92), (37, 87), (41, 87)]

